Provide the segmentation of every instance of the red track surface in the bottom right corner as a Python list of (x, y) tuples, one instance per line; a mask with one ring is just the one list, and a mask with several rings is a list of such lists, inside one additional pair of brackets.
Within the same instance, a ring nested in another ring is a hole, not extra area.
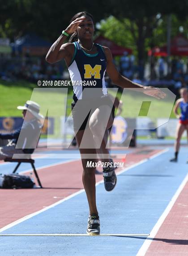
[(158, 230), (145, 256), (188, 256), (188, 183)]

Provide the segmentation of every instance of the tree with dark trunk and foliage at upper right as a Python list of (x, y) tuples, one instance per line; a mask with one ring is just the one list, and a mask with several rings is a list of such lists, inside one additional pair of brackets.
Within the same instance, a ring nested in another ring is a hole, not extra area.
[(188, 17), (188, 1), (181, 0), (111, 0), (112, 15), (120, 21), (128, 18), (130, 23), (126, 22), (126, 30), (131, 31), (132, 37), (136, 42), (138, 52), (138, 65), (140, 68), (140, 78), (143, 78), (145, 43), (150, 40), (150, 46), (154, 46), (154, 31), (160, 22), (160, 15), (174, 13), (179, 19), (185, 20)]

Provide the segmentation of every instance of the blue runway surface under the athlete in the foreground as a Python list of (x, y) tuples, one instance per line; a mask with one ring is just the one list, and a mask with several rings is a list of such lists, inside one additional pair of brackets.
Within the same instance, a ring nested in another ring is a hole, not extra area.
[[(187, 149), (171, 163), (172, 148), (118, 175), (115, 190), (97, 186), (102, 234), (150, 234), (187, 174)], [(2, 234), (85, 234), (85, 193), (62, 202)], [(143, 237), (0, 237), (0, 256), (136, 256)]]

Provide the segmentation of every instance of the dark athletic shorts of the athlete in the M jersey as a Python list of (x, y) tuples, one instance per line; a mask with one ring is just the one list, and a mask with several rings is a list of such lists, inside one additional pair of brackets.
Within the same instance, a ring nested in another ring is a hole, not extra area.
[[(89, 126), (88, 119), (93, 114), (93, 112), (100, 106), (107, 105), (111, 108), (112, 117), (115, 116), (115, 107), (109, 97), (104, 97), (102, 99), (90, 99), (90, 100), (79, 100), (78, 103), (73, 102), (72, 115), (73, 115), (73, 127), (74, 130), (85, 130)], [(80, 124), (80, 113), (87, 111), (87, 116), (85, 120)], [(111, 128), (109, 128), (111, 129)]]

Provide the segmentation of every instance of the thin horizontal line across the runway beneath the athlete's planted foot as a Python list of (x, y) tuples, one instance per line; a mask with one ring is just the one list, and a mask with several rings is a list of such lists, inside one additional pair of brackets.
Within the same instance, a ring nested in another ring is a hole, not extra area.
[[(100, 234), (97, 236), (116, 236), (116, 237), (148, 237), (150, 234)], [(35, 237), (35, 236), (94, 236), (89, 234), (2, 234), (0, 237)], [(95, 235), (96, 236), (96, 235)]]

